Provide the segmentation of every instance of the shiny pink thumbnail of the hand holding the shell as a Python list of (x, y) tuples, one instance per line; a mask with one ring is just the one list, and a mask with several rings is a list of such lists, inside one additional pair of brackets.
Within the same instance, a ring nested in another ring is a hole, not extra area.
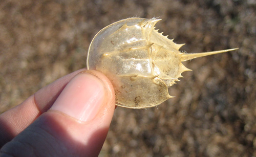
[(97, 115), (105, 95), (104, 84), (98, 77), (80, 73), (66, 85), (51, 109), (80, 121), (90, 121)]

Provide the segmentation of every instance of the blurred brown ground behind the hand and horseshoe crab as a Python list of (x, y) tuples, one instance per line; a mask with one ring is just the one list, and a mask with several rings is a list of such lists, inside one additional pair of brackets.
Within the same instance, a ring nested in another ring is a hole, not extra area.
[(100, 156), (256, 156), (256, 1), (0, 1), (0, 113), (86, 67), (103, 27), (160, 17), (187, 53), (240, 48), (184, 62), (175, 98), (117, 107)]

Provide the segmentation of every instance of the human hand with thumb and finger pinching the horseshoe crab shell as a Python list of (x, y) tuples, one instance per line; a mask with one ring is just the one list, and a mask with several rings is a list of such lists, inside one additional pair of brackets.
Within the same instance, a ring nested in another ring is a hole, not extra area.
[(97, 156), (114, 109), (108, 78), (73, 72), (0, 115), (0, 156)]

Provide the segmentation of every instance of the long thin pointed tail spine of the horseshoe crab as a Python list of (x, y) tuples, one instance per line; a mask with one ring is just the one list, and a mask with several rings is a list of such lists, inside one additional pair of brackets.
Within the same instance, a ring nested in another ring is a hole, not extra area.
[(199, 58), (199, 57), (204, 57), (204, 56), (209, 56), (209, 55), (214, 55), (214, 54), (224, 53), (224, 52), (229, 52), (229, 51), (234, 51), (234, 50), (238, 50), (238, 49), (239, 48), (228, 49), (228, 50), (220, 50), (220, 51), (211, 51), (211, 52), (202, 52), (202, 53), (182, 53), (181, 61), (187, 61), (187, 60), (194, 59), (194, 58)]

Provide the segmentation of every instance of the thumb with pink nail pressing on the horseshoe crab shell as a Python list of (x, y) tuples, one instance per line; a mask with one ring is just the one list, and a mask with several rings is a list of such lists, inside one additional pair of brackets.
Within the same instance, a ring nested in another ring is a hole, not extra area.
[(12, 156), (97, 156), (115, 109), (110, 81), (96, 71), (77, 74), (53, 106), (4, 145)]

